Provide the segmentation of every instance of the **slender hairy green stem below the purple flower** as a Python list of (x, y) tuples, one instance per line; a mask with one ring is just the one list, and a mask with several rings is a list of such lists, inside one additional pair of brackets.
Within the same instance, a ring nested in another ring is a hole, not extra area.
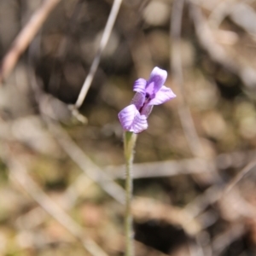
[(124, 135), (124, 149), (125, 149), (125, 193), (126, 193), (126, 206), (125, 206), (125, 256), (134, 256), (133, 246), (133, 227), (132, 227), (132, 213), (131, 213), (131, 200), (132, 200), (132, 163), (134, 147), (137, 135), (130, 131), (125, 131)]

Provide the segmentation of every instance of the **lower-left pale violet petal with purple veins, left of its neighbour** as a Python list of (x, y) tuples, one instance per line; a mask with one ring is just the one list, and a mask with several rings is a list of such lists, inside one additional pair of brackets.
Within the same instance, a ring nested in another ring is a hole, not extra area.
[(131, 125), (138, 114), (140, 115), (134, 104), (129, 105), (119, 112), (119, 121), (125, 131), (131, 131)]

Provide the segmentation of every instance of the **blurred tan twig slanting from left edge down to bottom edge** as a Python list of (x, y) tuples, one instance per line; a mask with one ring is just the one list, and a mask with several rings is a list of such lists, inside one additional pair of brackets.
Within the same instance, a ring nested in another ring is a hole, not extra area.
[(39, 206), (48, 212), (50, 216), (55, 218), (57, 222), (63, 225), (74, 237), (82, 242), (86, 251), (94, 256), (108, 256), (101, 247), (99, 247), (95, 241), (92, 241), (89, 237), (84, 237), (84, 230), (70, 218), (61, 207), (55, 204), (51, 198), (40, 189), (32, 178), (27, 174), (26, 167), (23, 166), (17, 157), (2, 155), (3, 160), (9, 166), (9, 175), (19, 183), (22, 189), (26, 191), (28, 195), (32, 197), (34, 201), (37, 201)]

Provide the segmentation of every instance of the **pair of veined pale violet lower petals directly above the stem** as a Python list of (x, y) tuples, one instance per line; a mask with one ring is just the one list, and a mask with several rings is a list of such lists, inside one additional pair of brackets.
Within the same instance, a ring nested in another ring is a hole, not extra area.
[(147, 117), (141, 115), (134, 104), (119, 112), (119, 121), (125, 131), (139, 133), (148, 128)]

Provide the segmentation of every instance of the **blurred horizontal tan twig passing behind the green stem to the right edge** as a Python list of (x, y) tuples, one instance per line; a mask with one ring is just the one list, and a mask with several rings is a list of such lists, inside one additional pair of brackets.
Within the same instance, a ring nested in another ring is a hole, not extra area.
[[(171, 177), (202, 172), (215, 172), (228, 168), (241, 168), (247, 162), (256, 158), (256, 151), (235, 151), (219, 154), (215, 159), (204, 160), (201, 158), (190, 158), (183, 160), (166, 160), (150, 163), (134, 164), (133, 178), (149, 177)], [(107, 166), (104, 170), (113, 179), (124, 178), (125, 166)], [(157, 171), (157, 172), (156, 172)]]

